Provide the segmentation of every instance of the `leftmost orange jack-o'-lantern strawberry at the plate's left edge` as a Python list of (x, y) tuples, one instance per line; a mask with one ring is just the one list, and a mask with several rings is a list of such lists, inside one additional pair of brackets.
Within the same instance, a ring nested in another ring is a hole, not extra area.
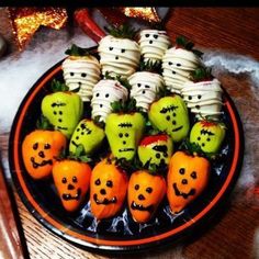
[(26, 135), (22, 143), (22, 157), (29, 174), (34, 179), (50, 176), (56, 157), (66, 144), (66, 136), (58, 131), (35, 130)]

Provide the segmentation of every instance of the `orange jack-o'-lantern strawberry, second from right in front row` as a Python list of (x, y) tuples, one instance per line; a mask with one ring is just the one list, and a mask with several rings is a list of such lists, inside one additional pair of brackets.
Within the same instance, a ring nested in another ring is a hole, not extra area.
[(147, 170), (132, 173), (128, 182), (127, 203), (137, 223), (148, 222), (166, 194), (166, 180)]

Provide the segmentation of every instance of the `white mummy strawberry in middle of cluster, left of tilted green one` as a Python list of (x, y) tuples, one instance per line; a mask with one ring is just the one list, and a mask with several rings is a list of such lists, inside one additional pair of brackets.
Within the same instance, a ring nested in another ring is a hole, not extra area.
[(164, 88), (165, 82), (159, 74), (150, 71), (138, 71), (128, 78), (132, 86), (131, 98), (136, 100), (136, 106), (147, 112), (157, 93)]

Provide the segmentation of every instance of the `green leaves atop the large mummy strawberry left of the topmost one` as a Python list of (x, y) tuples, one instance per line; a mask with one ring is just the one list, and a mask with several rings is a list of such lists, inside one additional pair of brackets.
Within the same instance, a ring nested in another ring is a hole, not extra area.
[(130, 24), (104, 26), (104, 30), (114, 37), (134, 40), (138, 30), (133, 29)]

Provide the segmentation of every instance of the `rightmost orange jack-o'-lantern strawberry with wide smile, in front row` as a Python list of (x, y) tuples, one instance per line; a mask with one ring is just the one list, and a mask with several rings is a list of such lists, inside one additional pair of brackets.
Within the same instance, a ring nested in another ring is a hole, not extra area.
[(167, 198), (171, 212), (181, 212), (205, 189), (210, 177), (210, 161), (187, 151), (177, 151), (170, 159), (167, 176)]

